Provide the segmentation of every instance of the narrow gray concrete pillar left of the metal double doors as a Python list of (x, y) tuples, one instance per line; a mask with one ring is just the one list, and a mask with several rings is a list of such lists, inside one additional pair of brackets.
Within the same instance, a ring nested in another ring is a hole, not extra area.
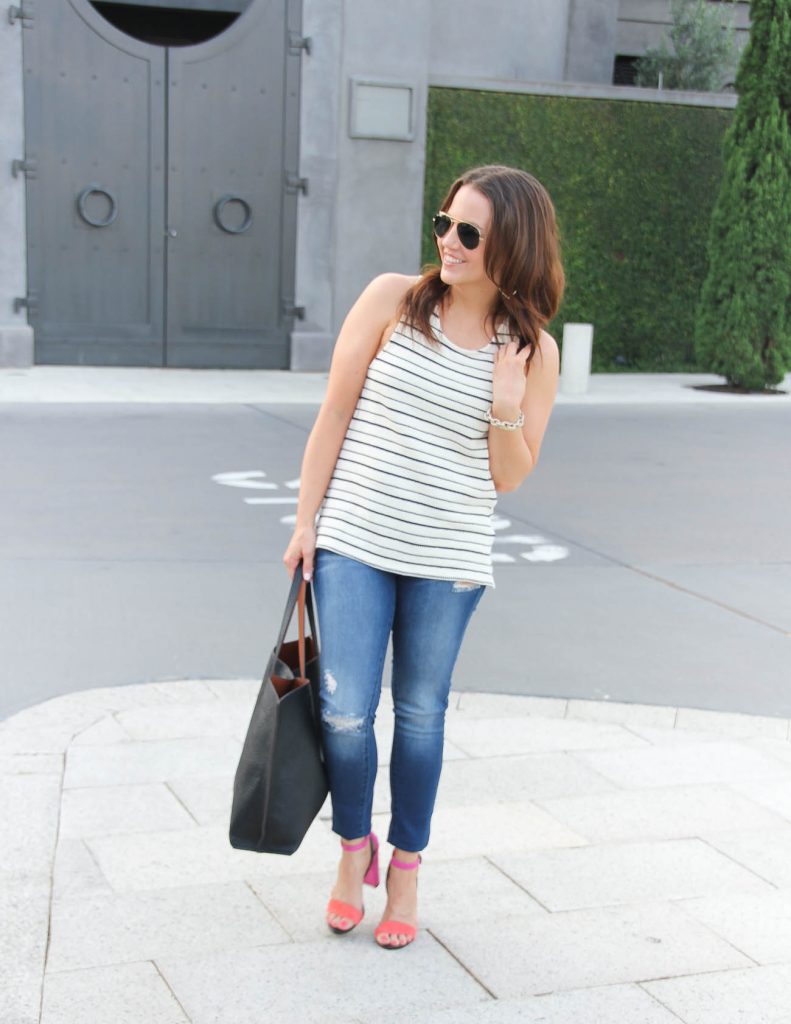
[[(18, 6), (18, 2), (16, 4)], [(22, 22), (10, 25), (8, 4), (0, 18), (0, 367), (33, 362), (33, 329), (13, 300), (27, 289), (25, 175), (11, 175), (11, 161), (25, 157)]]

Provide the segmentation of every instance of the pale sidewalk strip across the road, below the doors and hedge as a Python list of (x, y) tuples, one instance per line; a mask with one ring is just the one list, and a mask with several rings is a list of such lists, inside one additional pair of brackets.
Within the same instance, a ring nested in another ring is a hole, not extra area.
[[(730, 394), (700, 391), (700, 384), (724, 383), (714, 374), (591, 374), (583, 394), (566, 394), (559, 404), (763, 403), (791, 404), (791, 374), (781, 393)], [(135, 367), (48, 367), (0, 369), (0, 403), (39, 402), (302, 402), (319, 404), (326, 373), (287, 370), (178, 370)], [(785, 393), (782, 393), (785, 392)]]

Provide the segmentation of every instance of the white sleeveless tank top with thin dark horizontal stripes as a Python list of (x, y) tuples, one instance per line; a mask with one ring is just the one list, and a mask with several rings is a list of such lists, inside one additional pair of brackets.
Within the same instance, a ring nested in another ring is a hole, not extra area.
[(402, 319), (372, 359), (317, 521), (317, 548), (376, 568), (494, 588), (497, 493), (484, 417), (503, 331), (430, 345)]

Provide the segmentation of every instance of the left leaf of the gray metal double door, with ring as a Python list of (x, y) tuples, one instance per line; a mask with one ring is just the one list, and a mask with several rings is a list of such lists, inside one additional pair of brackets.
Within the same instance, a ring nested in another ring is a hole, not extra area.
[(159, 366), (165, 51), (80, 0), (39, 0), (24, 40), (36, 361)]

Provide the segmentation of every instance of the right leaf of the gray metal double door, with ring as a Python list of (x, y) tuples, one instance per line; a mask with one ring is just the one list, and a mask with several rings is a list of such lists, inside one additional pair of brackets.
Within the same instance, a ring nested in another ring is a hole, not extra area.
[(169, 366), (288, 366), (285, 16), (255, 0), (222, 35), (168, 50)]

